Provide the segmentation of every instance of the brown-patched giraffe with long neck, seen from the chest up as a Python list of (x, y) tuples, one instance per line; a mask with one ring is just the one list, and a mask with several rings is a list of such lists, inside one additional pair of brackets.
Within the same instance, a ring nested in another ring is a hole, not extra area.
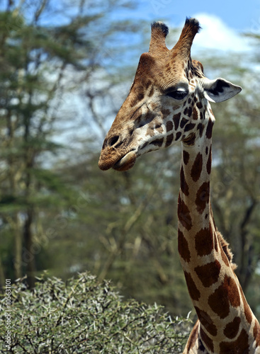
[(181, 142), (178, 250), (198, 315), (183, 353), (260, 353), (260, 326), (234, 273), (229, 245), (210, 205), (212, 133), (210, 102), (232, 98), (241, 87), (210, 80), (191, 59), (200, 25), (186, 18), (169, 50), (167, 26), (152, 24), (149, 52), (140, 57), (128, 97), (103, 142), (98, 166), (127, 171), (138, 156)]

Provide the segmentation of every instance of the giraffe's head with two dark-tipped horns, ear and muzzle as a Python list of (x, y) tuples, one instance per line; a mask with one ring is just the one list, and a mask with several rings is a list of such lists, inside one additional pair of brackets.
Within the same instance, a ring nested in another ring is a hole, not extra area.
[(225, 79), (209, 80), (203, 65), (191, 59), (193, 38), (200, 29), (187, 18), (176, 45), (165, 45), (168, 28), (152, 24), (149, 52), (143, 53), (134, 82), (103, 142), (98, 166), (126, 171), (138, 156), (175, 142), (193, 145), (214, 117), (210, 103), (241, 91)]

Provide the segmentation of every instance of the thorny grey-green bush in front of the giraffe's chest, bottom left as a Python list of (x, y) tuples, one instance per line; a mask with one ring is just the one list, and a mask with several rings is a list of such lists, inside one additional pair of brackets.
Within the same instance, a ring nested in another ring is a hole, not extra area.
[[(0, 309), (4, 343), (5, 298)], [(171, 319), (157, 304), (123, 301), (111, 282), (89, 273), (66, 282), (43, 276), (33, 291), (17, 281), (11, 319), (10, 353), (181, 353), (190, 324)]]

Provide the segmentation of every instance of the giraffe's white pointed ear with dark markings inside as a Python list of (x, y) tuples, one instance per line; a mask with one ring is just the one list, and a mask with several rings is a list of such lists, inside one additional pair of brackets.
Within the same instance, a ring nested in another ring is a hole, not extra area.
[(204, 96), (210, 102), (222, 102), (237, 95), (242, 88), (225, 79), (203, 79)]

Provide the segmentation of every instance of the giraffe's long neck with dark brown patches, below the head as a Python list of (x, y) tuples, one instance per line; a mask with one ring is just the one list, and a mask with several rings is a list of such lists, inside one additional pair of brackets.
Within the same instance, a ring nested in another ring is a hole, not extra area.
[(210, 206), (212, 128), (209, 119), (203, 136), (182, 149), (179, 254), (199, 320), (193, 330), (198, 336), (192, 332), (186, 348), (233, 353), (237, 346), (234, 353), (258, 353), (259, 324), (223, 251)]

